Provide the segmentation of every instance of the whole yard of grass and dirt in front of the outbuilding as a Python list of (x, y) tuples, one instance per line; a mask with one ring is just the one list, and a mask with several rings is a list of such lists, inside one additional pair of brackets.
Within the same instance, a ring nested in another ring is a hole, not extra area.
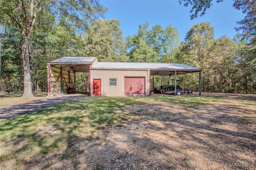
[(88, 97), (0, 121), (0, 169), (207, 168), (175, 151), (179, 140), (204, 161), (216, 156), (207, 169), (229, 169), (221, 160), (255, 164), (255, 127), (255, 95)]

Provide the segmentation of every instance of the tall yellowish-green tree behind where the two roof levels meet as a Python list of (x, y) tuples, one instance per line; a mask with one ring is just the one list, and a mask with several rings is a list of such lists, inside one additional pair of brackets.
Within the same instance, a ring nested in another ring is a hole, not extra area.
[(84, 39), (86, 54), (99, 61), (127, 61), (124, 38), (118, 20), (99, 20), (92, 23)]

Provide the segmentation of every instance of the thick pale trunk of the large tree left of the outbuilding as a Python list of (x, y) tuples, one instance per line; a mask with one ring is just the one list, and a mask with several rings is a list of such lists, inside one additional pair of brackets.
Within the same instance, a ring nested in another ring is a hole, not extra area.
[(32, 86), (31, 86), (28, 39), (29, 39), (29, 35), (22, 31), (22, 60), (23, 60), (23, 70), (24, 70), (24, 91), (23, 91), (22, 98), (34, 97), (32, 94)]

